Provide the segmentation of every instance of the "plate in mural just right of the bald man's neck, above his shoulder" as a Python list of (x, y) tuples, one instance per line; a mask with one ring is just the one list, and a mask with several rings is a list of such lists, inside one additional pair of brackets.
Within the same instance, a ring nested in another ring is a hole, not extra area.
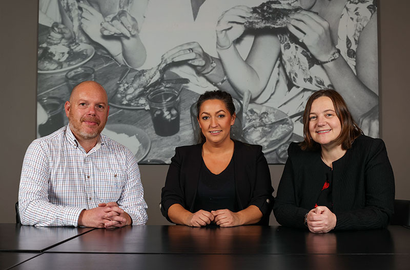
[(151, 149), (151, 140), (148, 134), (132, 125), (107, 124), (101, 133), (130, 149), (137, 162), (144, 159)]

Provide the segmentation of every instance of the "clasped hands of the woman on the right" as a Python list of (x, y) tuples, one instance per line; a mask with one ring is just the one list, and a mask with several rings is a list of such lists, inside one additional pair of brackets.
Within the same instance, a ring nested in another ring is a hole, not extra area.
[(327, 233), (336, 227), (336, 215), (325, 206), (318, 206), (308, 213), (307, 224), (312, 233)]

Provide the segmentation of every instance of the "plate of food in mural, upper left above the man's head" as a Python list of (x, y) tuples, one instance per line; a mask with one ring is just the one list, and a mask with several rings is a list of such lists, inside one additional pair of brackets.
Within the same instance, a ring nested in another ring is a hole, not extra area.
[(86, 43), (39, 46), (37, 72), (50, 74), (74, 69), (89, 61), (94, 53), (94, 47)]

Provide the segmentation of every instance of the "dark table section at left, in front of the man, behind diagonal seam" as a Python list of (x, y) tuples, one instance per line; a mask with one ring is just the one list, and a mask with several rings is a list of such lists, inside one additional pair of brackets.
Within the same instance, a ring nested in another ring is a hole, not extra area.
[(0, 224), (0, 251), (43, 252), (50, 247), (84, 234), (92, 228), (33, 227)]

